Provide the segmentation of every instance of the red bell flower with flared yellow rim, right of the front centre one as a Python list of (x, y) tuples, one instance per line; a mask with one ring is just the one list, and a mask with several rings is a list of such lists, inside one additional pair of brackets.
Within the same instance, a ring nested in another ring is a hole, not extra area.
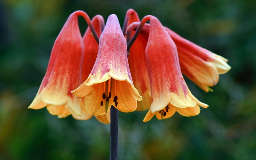
[(152, 104), (144, 122), (154, 115), (160, 116), (161, 119), (168, 118), (175, 111), (180, 110), (183, 115), (196, 115), (200, 111), (199, 106), (208, 107), (189, 91), (180, 70), (176, 45), (160, 21), (153, 16), (150, 17), (150, 31), (145, 55)]

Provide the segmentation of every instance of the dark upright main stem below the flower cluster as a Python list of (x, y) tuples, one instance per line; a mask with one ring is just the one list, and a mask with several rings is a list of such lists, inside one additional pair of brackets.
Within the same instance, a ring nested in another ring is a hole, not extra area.
[(117, 160), (118, 150), (118, 110), (110, 108), (110, 160)]

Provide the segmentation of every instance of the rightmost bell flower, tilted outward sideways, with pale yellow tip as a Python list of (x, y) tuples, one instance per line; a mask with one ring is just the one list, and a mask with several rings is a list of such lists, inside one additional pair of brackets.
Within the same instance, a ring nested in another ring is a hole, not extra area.
[(212, 53), (165, 28), (177, 46), (181, 72), (205, 92), (208, 86), (215, 86), (219, 81), (219, 74), (227, 73), (230, 66), (228, 60)]

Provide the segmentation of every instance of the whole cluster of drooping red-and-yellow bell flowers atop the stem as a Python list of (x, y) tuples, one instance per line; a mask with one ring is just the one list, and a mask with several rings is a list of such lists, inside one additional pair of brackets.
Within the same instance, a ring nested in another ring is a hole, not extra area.
[[(78, 16), (88, 23), (84, 36)], [(182, 73), (208, 92), (219, 74), (230, 69), (226, 62), (162, 26), (154, 16), (140, 21), (129, 9), (121, 29), (115, 14), (105, 25), (100, 15), (90, 20), (76, 11), (55, 40), (44, 79), (28, 108), (46, 107), (59, 118), (95, 116), (106, 124), (110, 107), (121, 112), (149, 109), (144, 122), (153, 116), (169, 118), (176, 111), (195, 116), (199, 106), (208, 105), (192, 95)]]

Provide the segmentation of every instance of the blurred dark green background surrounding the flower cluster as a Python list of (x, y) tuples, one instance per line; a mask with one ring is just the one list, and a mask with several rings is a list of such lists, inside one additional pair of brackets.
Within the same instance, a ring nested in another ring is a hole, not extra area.
[[(255, 159), (256, 1), (254, 0), (5, 0), (0, 1), (0, 160), (108, 159), (109, 125), (94, 117), (59, 119), (28, 109), (47, 68), (52, 45), (70, 13), (105, 20), (115, 13), (151, 14), (164, 26), (229, 60), (214, 92), (188, 79), (209, 104), (198, 116), (176, 113), (142, 122), (144, 112), (119, 114), (119, 159)], [(80, 22), (81, 21), (81, 22)], [(79, 19), (81, 32), (86, 24)]]

